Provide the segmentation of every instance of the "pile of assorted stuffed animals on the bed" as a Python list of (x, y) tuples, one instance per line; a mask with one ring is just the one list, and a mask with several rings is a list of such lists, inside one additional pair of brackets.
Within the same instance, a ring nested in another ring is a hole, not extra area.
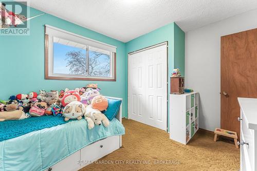
[(21, 120), (44, 115), (63, 116), (65, 121), (81, 120), (84, 116), (88, 129), (95, 125), (109, 125), (101, 112), (108, 107), (108, 101), (100, 94), (97, 84), (75, 90), (39, 90), (28, 94), (10, 96), (9, 101), (0, 101), (0, 121)]

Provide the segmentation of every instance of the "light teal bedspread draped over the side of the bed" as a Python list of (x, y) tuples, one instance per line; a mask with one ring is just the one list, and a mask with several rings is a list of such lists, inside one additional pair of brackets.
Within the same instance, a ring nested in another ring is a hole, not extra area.
[(0, 171), (45, 170), (90, 143), (113, 135), (123, 135), (123, 125), (114, 118), (108, 127), (72, 121), (29, 132), (0, 142)]

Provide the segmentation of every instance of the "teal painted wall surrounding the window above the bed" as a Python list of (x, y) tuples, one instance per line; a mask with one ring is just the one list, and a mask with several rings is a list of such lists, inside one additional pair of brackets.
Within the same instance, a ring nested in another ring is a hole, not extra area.
[[(30, 8), (30, 16), (41, 14), (39, 10)], [(17, 93), (30, 91), (73, 89), (82, 87), (92, 81), (61, 81), (44, 79), (44, 25), (48, 24), (90, 39), (104, 42), (117, 47), (117, 81), (98, 83), (105, 96), (125, 99), (125, 43), (114, 40), (103, 34), (45, 14), (30, 20), (29, 36), (0, 36), (0, 99), (8, 99)], [(125, 105), (125, 103), (123, 103)], [(123, 115), (125, 107), (123, 108)]]

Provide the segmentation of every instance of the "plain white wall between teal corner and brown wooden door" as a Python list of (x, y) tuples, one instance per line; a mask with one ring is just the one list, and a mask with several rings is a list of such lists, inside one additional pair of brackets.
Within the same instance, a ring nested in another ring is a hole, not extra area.
[(185, 82), (200, 94), (200, 128), (221, 125), (221, 36), (254, 28), (257, 10), (186, 32)]

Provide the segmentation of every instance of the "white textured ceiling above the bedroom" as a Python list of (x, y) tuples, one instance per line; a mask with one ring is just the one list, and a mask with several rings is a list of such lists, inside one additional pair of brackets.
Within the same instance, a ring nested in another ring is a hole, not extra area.
[(30, 0), (29, 3), (35, 9), (122, 42), (171, 22), (189, 31), (257, 8), (256, 0)]

